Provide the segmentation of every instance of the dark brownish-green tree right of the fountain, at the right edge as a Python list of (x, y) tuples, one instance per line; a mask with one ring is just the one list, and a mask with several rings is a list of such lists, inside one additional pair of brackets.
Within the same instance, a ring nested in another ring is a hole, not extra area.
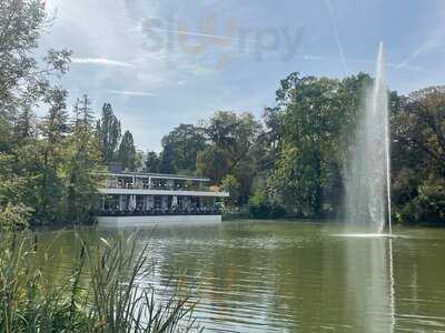
[(445, 88), (429, 87), (403, 99), (392, 121), (395, 218), (441, 222), (445, 202)]

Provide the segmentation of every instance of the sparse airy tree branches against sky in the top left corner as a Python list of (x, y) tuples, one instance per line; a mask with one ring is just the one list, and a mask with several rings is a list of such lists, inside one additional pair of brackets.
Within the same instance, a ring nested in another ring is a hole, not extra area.
[(42, 67), (33, 58), (48, 23), (44, 1), (0, 2), (0, 113), (7, 118), (40, 101), (51, 87), (50, 79), (68, 71), (70, 51), (49, 50)]

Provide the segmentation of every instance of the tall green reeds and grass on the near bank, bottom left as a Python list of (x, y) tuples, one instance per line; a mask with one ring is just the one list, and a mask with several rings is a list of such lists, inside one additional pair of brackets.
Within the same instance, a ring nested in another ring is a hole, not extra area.
[[(190, 332), (195, 303), (179, 289), (159, 297), (147, 245), (79, 235), (72, 274), (55, 283), (36, 265), (30, 234), (0, 238), (0, 332)], [(187, 294), (187, 293), (186, 293)]]

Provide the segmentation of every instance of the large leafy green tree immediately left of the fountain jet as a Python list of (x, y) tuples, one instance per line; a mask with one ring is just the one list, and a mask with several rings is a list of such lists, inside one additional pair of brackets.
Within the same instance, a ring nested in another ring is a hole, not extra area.
[(277, 104), (265, 114), (270, 200), (297, 215), (342, 210), (343, 170), (372, 82), (364, 73), (342, 81), (299, 73), (281, 80)]

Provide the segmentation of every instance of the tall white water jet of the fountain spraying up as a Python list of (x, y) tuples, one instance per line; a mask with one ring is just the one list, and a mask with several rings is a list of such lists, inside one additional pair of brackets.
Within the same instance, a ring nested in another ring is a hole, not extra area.
[(359, 115), (350, 159), (346, 165), (346, 220), (354, 229), (392, 233), (389, 104), (383, 43), (376, 77)]

